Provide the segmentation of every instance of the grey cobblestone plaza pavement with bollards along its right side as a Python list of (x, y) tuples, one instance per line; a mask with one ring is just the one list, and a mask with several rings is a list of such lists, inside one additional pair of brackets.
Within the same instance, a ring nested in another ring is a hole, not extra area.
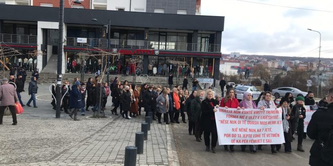
[[(125, 147), (135, 144), (135, 132), (141, 131), (142, 116), (126, 120), (121, 116), (92, 119), (92, 112), (73, 121), (62, 112), (55, 119), (48, 85), (39, 85), (37, 106), (24, 107), (18, 125), (4, 117), (0, 125), (0, 165), (123, 165)], [(29, 99), (22, 94), (22, 100)], [(110, 101), (106, 110), (110, 110)], [(119, 111), (118, 111), (119, 112)], [(179, 165), (171, 126), (153, 121), (144, 141), (144, 153), (137, 155), (137, 165)]]

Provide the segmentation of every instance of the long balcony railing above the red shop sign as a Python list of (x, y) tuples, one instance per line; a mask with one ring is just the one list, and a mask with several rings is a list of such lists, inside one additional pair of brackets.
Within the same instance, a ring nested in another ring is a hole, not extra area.
[[(70, 46), (93, 46), (107, 47), (107, 39), (87, 38), (87, 43), (78, 43), (77, 38), (68, 37), (67, 45)], [(133, 49), (156, 49), (172, 51), (199, 51), (199, 52), (220, 52), (219, 44), (200, 43), (176, 43), (176, 42), (156, 42), (144, 40), (119, 40), (111, 39), (110, 48), (133, 48)]]

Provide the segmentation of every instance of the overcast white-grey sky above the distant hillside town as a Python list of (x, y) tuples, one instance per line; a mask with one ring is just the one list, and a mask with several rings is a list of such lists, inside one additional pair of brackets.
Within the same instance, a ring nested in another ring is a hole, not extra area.
[(202, 0), (201, 15), (225, 16), (221, 52), (333, 58), (332, 0)]

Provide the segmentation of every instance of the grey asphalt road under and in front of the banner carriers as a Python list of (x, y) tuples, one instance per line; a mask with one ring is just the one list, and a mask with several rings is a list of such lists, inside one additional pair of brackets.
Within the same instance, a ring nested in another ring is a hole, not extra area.
[(214, 154), (205, 151), (203, 139), (202, 142), (196, 142), (195, 137), (188, 134), (188, 123), (172, 125), (181, 165), (309, 165), (309, 150), (313, 143), (309, 138), (303, 140), (305, 152), (296, 151), (296, 135), (296, 140), (292, 142), (293, 153), (285, 153), (284, 145), (277, 154), (270, 152), (269, 145), (263, 145), (263, 150), (257, 150), (256, 154), (250, 153), (248, 147), (242, 152), (240, 145), (235, 145), (234, 153), (225, 151), (223, 145), (218, 145)]

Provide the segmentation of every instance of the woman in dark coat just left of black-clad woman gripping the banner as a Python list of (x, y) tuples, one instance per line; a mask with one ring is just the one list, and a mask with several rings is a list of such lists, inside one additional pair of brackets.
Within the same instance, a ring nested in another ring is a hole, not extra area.
[(195, 127), (195, 138), (196, 141), (201, 142), (202, 129), (200, 126), (200, 114), (201, 114), (201, 102), (203, 100), (204, 92), (199, 90), (197, 92), (196, 98), (191, 102), (191, 121), (194, 122)]

